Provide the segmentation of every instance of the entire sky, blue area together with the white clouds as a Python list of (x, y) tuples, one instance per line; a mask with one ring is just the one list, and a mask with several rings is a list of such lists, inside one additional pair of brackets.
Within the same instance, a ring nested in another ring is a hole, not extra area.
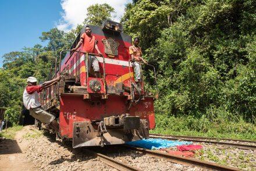
[(108, 3), (116, 10), (117, 22), (131, 0), (0, 0), (0, 67), (2, 56), (24, 47), (42, 44), (43, 31), (54, 27), (68, 31), (83, 22), (86, 9), (95, 3)]

